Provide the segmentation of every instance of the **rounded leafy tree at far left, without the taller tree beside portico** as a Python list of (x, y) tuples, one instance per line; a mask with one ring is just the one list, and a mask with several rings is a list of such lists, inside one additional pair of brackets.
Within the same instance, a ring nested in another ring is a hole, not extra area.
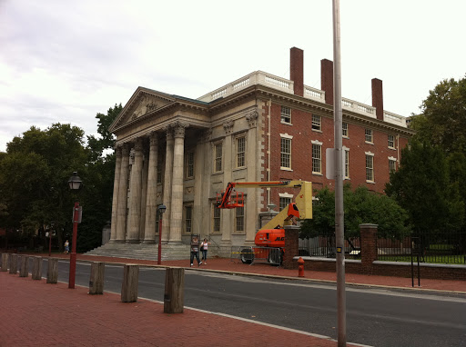
[(52, 124), (44, 131), (32, 126), (7, 144), (0, 161), (0, 193), (9, 213), (0, 226), (33, 234), (54, 222), (62, 243), (73, 205), (66, 183), (73, 171), (86, 174), (83, 136), (70, 124)]

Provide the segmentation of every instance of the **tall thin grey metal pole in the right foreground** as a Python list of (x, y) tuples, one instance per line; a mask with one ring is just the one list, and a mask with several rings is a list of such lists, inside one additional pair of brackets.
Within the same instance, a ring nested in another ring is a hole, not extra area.
[(343, 212), (343, 140), (341, 112), (341, 66), (339, 0), (333, 0), (333, 111), (335, 124), (335, 233), (337, 246), (337, 329), (338, 345), (346, 346), (345, 237)]

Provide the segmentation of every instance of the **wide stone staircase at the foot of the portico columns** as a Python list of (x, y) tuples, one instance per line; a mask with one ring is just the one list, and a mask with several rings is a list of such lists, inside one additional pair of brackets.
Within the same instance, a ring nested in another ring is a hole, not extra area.
[[(189, 259), (189, 252), (188, 244), (162, 244), (162, 261)], [(156, 261), (157, 253), (157, 244), (106, 243), (85, 255)]]

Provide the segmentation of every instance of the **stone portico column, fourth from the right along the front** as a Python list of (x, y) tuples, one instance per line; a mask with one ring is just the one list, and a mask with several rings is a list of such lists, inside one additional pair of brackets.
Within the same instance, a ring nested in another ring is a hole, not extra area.
[(135, 144), (135, 164), (131, 169), (129, 188), (129, 233), (127, 243), (137, 243), (139, 240), (139, 225), (141, 222), (141, 187), (142, 187), (142, 139)]

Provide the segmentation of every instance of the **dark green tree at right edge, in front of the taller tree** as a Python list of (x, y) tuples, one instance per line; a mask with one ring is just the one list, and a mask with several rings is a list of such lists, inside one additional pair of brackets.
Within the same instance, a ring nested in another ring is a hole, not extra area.
[(400, 168), (390, 174), (385, 192), (408, 211), (417, 233), (442, 233), (458, 231), (463, 223), (459, 188), (441, 148), (413, 139), (401, 151)]

